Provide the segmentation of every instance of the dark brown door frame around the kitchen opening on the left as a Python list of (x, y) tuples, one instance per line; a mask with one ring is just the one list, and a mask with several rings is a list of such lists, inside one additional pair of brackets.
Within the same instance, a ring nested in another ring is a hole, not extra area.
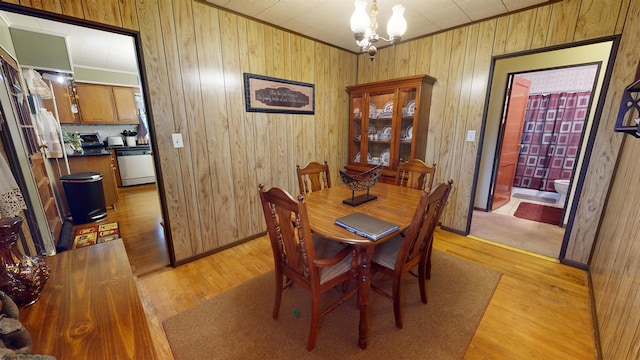
[[(144, 66), (145, 62), (144, 62), (144, 56), (142, 51), (142, 38), (139, 31), (97, 23), (97, 22), (88, 21), (88, 20), (83, 20), (79, 18), (69, 17), (62, 14), (46, 12), (46, 11), (42, 11), (34, 8), (27, 8), (24, 6), (9, 4), (5, 2), (0, 2), (0, 11), (9, 11), (9, 12), (14, 12), (14, 13), (18, 13), (26, 16), (42, 18), (50, 21), (58, 21), (58, 22), (67, 23), (71, 25), (130, 36), (133, 40), (133, 44), (135, 47), (135, 52), (136, 52), (136, 57), (138, 62), (138, 75), (140, 77), (140, 85), (142, 86), (142, 89), (143, 89), (142, 95), (145, 103), (149, 136), (151, 138), (151, 150), (155, 154), (160, 153), (158, 151), (158, 141), (156, 141), (157, 136), (156, 136), (155, 126), (154, 126), (153, 109), (151, 107), (151, 97), (148, 91), (150, 87), (149, 87), (149, 82), (147, 80), (148, 76), (147, 76), (146, 68)], [(173, 249), (173, 239), (171, 236), (171, 224), (170, 224), (170, 219), (167, 216), (168, 214), (167, 200), (164, 196), (165, 187), (164, 187), (164, 181), (162, 178), (162, 165), (160, 164), (160, 158), (158, 156), (154, 156), (153, 161), (154, 161), (154, 166), (156, 170), (156, 185), (158, 187), (158, 196), (160, 198), (160, 208), (162, 210), (162, 219), (164, 222), (163, 228), (165, 233), (165, 242), (167, 245), (167, 250), (169, 252), (169, 260), (171, 262), (171, 265), (176, 266), (175, 252)]]

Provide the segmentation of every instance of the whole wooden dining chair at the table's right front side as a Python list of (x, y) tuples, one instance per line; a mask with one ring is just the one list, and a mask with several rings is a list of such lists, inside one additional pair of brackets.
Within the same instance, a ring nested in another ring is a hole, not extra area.
[[(425, 192), (411, 220), (411, 225), (404, 236), (397, 236), (380, 244), (375, 248), (371, 258), (371, 267), (375, 272), (391, 277), (393, 280), (392, 293), (389, 294), (379, 287), (372, 285), (372, 289), (393, 299), (393, 313), (396, 326), (402, 329), (402, 276), (411, 273), (418, 278), (420, 299), (427, 303), (425, 277), (428, 268), (429, 254), (433, 245), (433, 233), (447, 204), (453, 181), (439, 184), (431, 193)], [(418, 266), (418, 273), (412, 270)]]

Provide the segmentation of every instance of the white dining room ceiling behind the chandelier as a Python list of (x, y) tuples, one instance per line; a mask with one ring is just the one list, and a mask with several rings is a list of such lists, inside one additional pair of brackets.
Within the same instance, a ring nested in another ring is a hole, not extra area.
[[(357, 52), (350, 28), (353, 0), (206, 0), (211, 4)], [(403, 40), (554, 0), (378, 0), (378, 35), (387, 36), (393, 5), (405, 7)], [(367, 12), (371, 1), (367, 1)], [(380, 44), (380, 43), (378, 43)]]

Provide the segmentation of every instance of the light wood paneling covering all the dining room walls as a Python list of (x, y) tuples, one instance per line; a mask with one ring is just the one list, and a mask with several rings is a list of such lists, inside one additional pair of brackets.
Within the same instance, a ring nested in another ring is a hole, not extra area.
[[(492, 56), (622, 34), (567, 259), (587, 263), (596, 240), (591, 271), (604, 358), (637, 356), (640, 189), (628, 184), (640, 175), (640, 143), (627, 139), (614, 174), (624, 135), (612, 128), (640, 59), (640, 2), (564, 0), (382, 49), (374, 62), (194, 1), (7, 2), (140, 32), (177, 260), (261, 232), (259, 182), (294, 192), (295, 164), (310, 160), (327, 160), (337, 174), (346, 162), (344, 88), (356, 79), (437, 78), (424, 151), (438, 163), (438, 180), (456, 181), (443, 223), (465, 229), (479, 149), (464, 138), (481, 128)], [(315, 116), (246, 113), (242, 72), (314, 83)], [(185, 148), (172, 147), (174, 132)]]

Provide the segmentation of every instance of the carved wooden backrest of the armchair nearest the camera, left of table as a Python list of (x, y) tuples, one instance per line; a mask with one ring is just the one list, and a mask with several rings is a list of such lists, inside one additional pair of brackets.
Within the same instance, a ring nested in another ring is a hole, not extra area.
[(320, 282), (319, 270), (310, 266), (316, 258), (304, 196), (294, 199), (287, 191), (260, 184), (260, 200), (271, 240), (274, 264), (289, 268), (300, 278)]

